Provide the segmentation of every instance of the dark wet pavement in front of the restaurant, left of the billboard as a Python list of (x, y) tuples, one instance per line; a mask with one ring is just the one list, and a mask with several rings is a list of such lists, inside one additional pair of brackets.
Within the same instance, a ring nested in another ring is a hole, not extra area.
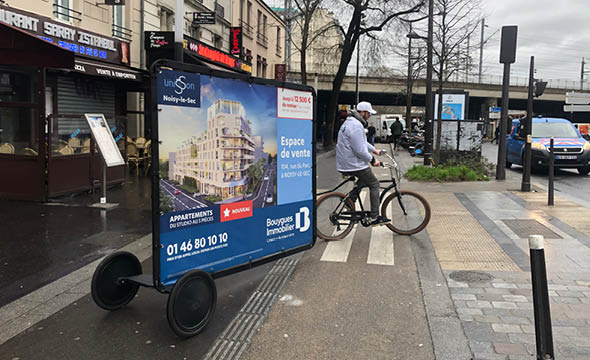
[(0, 306), (149, 234), (151, 184), (130, 177), (107, 192), (120, 206), (85, 207), (99, 194), (54, 199), (51, 204), (0, 201)]

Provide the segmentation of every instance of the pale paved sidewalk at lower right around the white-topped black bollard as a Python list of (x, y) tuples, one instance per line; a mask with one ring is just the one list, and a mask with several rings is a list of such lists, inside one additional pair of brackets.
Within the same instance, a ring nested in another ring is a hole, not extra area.
[[(456, 201), (460, 195), (477, 209)], [(460, 194), (427, 196), (432, 208), (441, 210), (434, 211), (428, 232), (474, 359), (535, 358), (531, 274), (522, 261), (523, 255), (528, 261), (522, 231), (534, 231), (532, 220), (559, 235), (545, 242), (555, 358), (590, 359), (590, 249), (585, 238), (590, 228), (581, 221), (588, 209), (564, 199), (559, 199), (563, 209), (549, 208), (542, 197), (471, 191), (469, 186)], [(452, 211), (445, 210), (449, 204)], [(508, 219), (527, 220), (527, 226), (517, 234), (506, 226)], [(502, 267), (507, 271), (497, 271)], [(492, 279), (453, 280), (451, 274), (462, 270), (478, 270)]]

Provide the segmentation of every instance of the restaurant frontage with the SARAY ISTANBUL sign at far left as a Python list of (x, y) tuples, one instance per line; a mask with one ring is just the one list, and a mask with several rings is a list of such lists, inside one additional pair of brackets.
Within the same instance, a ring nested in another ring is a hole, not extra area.
[[(102, 159), (85, 113), (101, 113), (119, 149), (143, 117), (140, 1), (6, 0), (0, 4), (0, 197), (46, 200), (99, 183)], [(137, 129), (134, 129), (137, 130)], [(107, 182), (123, 181), (125, 166)]]

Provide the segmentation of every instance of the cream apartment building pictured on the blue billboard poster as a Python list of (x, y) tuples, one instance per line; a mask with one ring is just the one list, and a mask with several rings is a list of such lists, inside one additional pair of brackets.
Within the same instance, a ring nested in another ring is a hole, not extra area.
[(186, 140), (170, 157), (173, 179), (194, 181), (191, 185), (200, 193), (222, 200), (244, 196), (255, 146), (242, 104), (217, 100), (207, 109), (207, 130)]

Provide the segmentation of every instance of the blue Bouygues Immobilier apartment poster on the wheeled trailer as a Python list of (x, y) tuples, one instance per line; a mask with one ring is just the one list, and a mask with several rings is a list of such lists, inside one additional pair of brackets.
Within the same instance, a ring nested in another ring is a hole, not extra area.
[(158, 76), (163, 283), (313, 242), (313, 95), (225, 77)]

